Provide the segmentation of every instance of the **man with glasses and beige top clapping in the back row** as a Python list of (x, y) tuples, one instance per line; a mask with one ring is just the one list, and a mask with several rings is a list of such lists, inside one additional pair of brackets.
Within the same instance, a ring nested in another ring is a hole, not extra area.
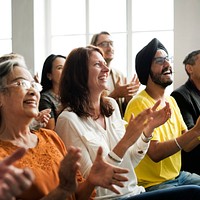
[[(101, 32), (93, 35), (91, 44), (98, 46), (104, 53), (104, 59), (107, 62), (109, 68), (110, 63), (114, 58), (114, 46), (111, 35), (108, 32)], [(108, 95), (114, 98), (120, 108), (121, 116), (124, 116), (127, 103), (137, 93), (140, 83), (136, 75), (133, 76), (130, 83), (122, 72), (111, 68), (108, 79)]]

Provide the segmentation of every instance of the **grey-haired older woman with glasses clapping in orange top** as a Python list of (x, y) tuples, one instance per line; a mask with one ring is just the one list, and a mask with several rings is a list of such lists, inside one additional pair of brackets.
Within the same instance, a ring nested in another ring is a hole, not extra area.
[(32, 186), (17, 199), (88, 200), (95, 195), (95, 186), (119, 193), (115, 185), (123, 187), (127, 178), (122, 173), (128, 170), (106, 163), (102, 148), (84, 180), (79, 172), (80, 149), (71, 147), (65, 156), (66, 148), (53, 130), (30, 130), (30, 122), (38, 115), (41, 88), (24, 63), (11, 59), (0, 64), (0, 159), (23, 147), (27, 152), (15, 167), (31, 168), (35, 175)]

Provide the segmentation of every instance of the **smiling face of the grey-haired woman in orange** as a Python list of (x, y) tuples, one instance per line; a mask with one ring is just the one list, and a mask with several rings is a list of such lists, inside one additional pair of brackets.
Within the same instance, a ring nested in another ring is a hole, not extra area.
[(30, 72), (16, 66), (7, 76), (7, 85), (5, 91), (1, 92), (2, 117), (5, 119), (32, 119), (38, 114), (38, 103), (40, 93), (33, 87), (27, 89), (22, 80), (27, 80), (33, 83), (34, 79)]

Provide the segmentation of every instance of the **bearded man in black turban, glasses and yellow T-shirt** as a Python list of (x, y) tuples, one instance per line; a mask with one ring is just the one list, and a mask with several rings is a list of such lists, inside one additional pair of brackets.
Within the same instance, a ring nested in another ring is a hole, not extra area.
[(158, 100), (161, 101), (158, 109), (166, 102), (171, 108), (171, 117), (154, 129), (151, 137), (145, 138), (151, 141), (147, 154), (135, 168), (139, 185), (146, 191), (200, 185), (199, 175), (181, 171), (181, 150), (191, 151), (200, 143), (200, 120), (188, 131), (175, 99), (165, 94), (173, 82), (167, 49), (154, 38), (137, 53), (135, 64), (138, 78), (146, 88), (127, 105), (125, 120), (129, 121), (132, 114), (137, 116)]

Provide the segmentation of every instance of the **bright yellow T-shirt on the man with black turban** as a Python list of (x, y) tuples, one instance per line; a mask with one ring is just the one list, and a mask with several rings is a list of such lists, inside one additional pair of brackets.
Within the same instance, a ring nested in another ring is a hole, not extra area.
[[(166, 97), (172, 111), (171, 118), (165, 124), (154, 129), (153, 139), (159, 142), (179, 137), (186, 125), (183, 121), (180, 110), (173, 97)], [(129, 121), (131, 113), (137, 116), (143, 110), (152, 107), (156, 101), (151, 98), (145, 90), (136, 95), (128, 104), (124, 119)], [(158, 107), (160, 109), (161, 107)], [(172, 180), (177, 177), (181, 169), (181, 151), (169, 156), (162, 161), (156, 163), (152, 161), (148, 155), (145, 155), (139, 165), (135, 168), (139, 185), (150, 187), (160, 184), (164, 181)]]

